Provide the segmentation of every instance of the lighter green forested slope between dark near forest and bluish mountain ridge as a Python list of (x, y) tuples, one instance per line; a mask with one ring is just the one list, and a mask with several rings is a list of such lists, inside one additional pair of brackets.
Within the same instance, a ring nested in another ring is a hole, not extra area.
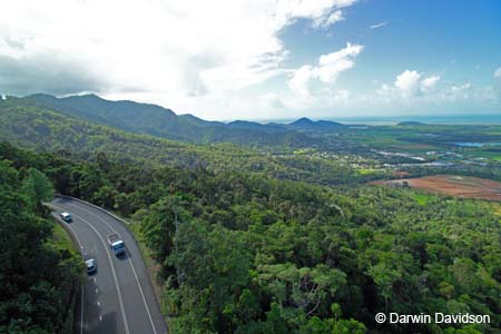
[(232, 144), (193, 145), (126, 132), (50, 111), (17, 98), (0, 100), (0, 138), (20, 147), (60, 156), (89, 158), (102, 151), (118, 160), (145, 164), (247, 170), (281, 179), (316, 184), (365, 181), (379, 175), (353, 173), (344, 160), (282, 154), (292, 148), (250, 149)]

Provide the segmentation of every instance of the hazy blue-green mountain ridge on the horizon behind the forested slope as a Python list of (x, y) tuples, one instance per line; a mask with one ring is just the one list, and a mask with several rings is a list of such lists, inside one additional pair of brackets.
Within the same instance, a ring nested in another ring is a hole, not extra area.
[[(11, 99), (11, 98), (10, 98)], [(295, 127), (263, 126), (255, 122), (206, 121), (194, 116), (177, 116), (160, 106), (134, 101), (109, 101), (96, 95), (56, 98), (32, 95), (22, 102), (106, 125), (134, 134), (157, 136), (185, 143), (234, 143), (256, 146), (298, 146), (314, 143), (312, 138), (294, 131)], [(17, 101), (19, 104), (19, 100)]]

